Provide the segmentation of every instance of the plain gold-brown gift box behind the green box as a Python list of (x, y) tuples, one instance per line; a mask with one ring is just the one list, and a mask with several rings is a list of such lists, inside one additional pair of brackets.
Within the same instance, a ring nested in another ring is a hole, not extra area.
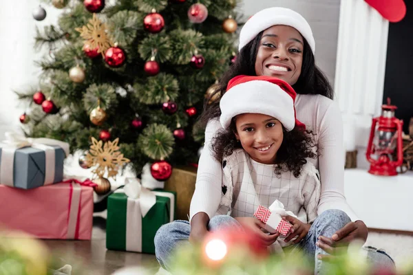
[(195, 191), (196, 170), (193, 166), (174, 167), (171, 177), (165, 182), (165, 190), (176, 192), (177, 219), (188, 219), (189, 206)]

